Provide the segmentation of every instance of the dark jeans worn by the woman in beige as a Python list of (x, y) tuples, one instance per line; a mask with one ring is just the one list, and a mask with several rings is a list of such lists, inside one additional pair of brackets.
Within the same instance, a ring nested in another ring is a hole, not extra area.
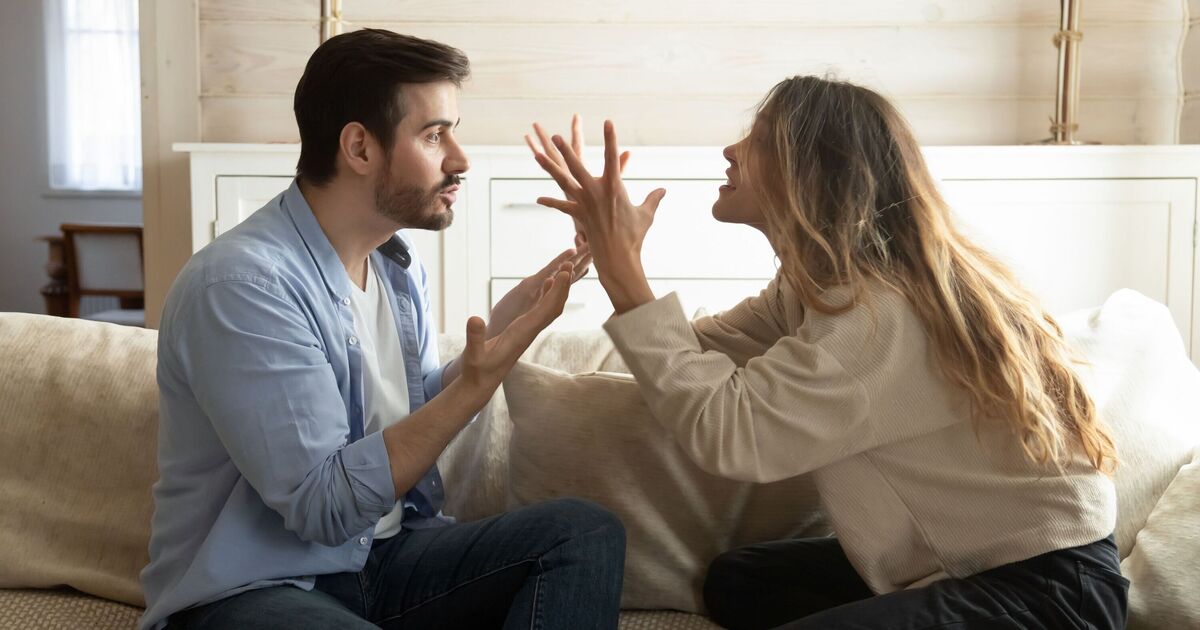
[(875, 595), (835, 538), (780, 540), (713, 560), (704, 602), (726, 628), (1124, 628), (1129, 581), (1112, 536), (971, 577)]

